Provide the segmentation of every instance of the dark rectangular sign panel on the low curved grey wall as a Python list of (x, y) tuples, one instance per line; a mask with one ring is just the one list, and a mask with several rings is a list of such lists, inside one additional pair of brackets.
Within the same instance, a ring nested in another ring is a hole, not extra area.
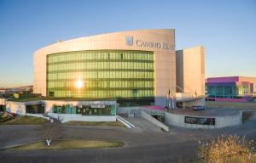
[(215, 118), (185, 116), (184, 122), (197, 125), (215, 125)]

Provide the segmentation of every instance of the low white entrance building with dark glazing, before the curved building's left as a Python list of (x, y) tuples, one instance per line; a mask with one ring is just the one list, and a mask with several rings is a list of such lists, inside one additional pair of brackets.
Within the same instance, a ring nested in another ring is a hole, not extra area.
[[(67, 121), (116, 121), (116, 101), (32, 100), (0, 98), (0, 111)], [(48, 115), (48, 116), (44, 116)]]

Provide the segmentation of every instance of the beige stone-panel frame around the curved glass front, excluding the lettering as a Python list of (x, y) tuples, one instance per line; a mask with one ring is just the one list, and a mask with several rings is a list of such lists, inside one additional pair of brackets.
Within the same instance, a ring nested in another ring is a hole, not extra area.
[[(127, 45), (125, 37), (133, 37), (133, 45)], [(172, 45), (172, 48), (151, 48), (137, 46), (137, 40), (160, 42)], [(82, 50), (144, 50), (154, 52), (154, 95), (156, 104), (165, 102), (170, 89), (176, 92), (175, 31), (138, 30), (124, 31), (91, 37), (80, 37), (65, 42), (57, 42), (41, 48), (34, 53), (34, 93), (46, 96), (46, 56), (50, 53), (62, 53)]]

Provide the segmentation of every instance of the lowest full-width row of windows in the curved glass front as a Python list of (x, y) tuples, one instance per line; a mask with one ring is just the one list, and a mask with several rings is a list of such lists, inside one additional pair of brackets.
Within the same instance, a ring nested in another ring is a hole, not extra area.
[(55, 97), (75, 98), (137, 98), (154, 97), (154, 90), (90, 90), (90, 91), (60, 91), (50, 89), (48, 93)]

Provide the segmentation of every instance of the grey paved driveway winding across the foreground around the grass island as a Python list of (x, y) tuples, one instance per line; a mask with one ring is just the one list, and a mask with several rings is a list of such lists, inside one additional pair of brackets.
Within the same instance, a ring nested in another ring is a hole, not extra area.
[[(137, 127), (65, 126), (63, 131), (63, 138), (118, 140), (125, 142), (123, 148), (24, 152), (2, 150), (0, 162), (190, 162), (196, 158), (199, 138), (238, 134), (256, 140), (255, 119), (250, 119), (243, 126), (218, 130), (172, 126), (170, 133), (161, 132), (142, 118), (129, 121)], [(0, 147), (39, 140), (41, 133), (41, 126), (0, 126)]]

